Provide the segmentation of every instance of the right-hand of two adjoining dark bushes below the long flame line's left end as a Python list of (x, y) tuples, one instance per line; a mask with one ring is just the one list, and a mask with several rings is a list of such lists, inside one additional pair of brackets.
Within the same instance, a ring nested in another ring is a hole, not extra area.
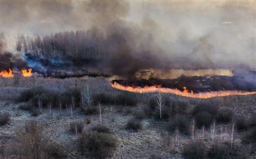
[(134, 106), (138, 103), (136, 96), (131, 93), (120, 93), (116, 97), (116, 104), (123, 106)]

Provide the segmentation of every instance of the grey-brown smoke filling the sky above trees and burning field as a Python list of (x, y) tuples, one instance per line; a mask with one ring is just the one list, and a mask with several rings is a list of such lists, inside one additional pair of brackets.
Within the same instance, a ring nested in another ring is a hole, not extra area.
[[(143, 3), (144, 2), (144, 3)], [(254, 1), (0, 0), (8, 49), (17, 34), (89, 30), (119, 75), (149, 68), (255, 66)]]

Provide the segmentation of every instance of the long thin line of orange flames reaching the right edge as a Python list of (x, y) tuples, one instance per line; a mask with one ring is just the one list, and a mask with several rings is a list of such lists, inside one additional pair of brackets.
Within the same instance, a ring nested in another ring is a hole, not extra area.
[(139, 86), (124, 86), (114, 82), (112, 87), (115, 89), (129, 91), (129, 92), (137, 92), (137, 93), (153, 93), (153, 92), (161, 92), (161, 93), (172, 93), (174, 95), (179, 95), (183, 97), (190, 98), (213, 98), (213, 97), (225, 97), (232, 95), (252, 95), (256, 94), (256, 92), (244, 92), (244, 91), (212, 91), (212, 92), (200, 92), (194, 93), (193, 91), (189, 92), (187, 88), (184, 86), (184, 90), (180, 91), (178, 89), (171, 88), (162, 88), (161, 85), (153, 85), (153, 86), (145, 86), (144, 88)]

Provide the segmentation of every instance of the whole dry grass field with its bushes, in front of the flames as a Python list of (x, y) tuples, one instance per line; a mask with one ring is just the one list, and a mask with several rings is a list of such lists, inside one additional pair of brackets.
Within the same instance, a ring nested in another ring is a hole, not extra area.
[(0, 158), (256, 157), (256, 95), (192, 99), (122, 92), (100, 77), (1, 78), (0, 115)]

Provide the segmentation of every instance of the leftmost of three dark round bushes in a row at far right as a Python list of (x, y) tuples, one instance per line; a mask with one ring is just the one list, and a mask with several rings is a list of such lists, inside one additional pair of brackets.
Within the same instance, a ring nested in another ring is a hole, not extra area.
[(196, 114), (195, 120), (199, 128), (202, 126), (209, 127), (212, 124), (213, 116), (206, 111), (201, 111)]

